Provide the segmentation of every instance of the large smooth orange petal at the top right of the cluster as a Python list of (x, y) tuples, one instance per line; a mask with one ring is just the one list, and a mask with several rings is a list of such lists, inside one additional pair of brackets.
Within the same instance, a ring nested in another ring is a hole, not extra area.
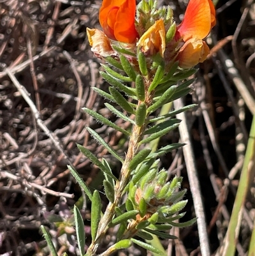
[(177, 27), (177, 39), (203, 39), (216, 24), (212, 0), (190, 0), (182, 23)]

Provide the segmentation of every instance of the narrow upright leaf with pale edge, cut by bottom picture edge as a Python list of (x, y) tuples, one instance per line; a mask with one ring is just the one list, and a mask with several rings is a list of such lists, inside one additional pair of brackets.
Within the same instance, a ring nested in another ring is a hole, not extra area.
[(85, 254), (85, 231), (84, 231), (84, 220), (77, 206), (73, 207), (73, 213), (75, 216), (75, 229), (77, 235), (77, 243), (80, 251), (80, 255)]

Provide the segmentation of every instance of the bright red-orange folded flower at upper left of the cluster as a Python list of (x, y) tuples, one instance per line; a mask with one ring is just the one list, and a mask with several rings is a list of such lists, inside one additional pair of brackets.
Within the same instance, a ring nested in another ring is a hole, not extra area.
[(135, 43), (135, 0), (103, 0), (99, 22), (106, 36), (122, 43)]

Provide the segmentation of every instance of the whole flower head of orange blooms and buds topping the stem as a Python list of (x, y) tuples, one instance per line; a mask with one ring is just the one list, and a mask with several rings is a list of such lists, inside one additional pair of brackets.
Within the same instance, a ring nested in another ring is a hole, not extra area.
[(135, 54), (140, 49), (147, 57), (159, 54), (166, 64), (179, 61), (184, 69), (205, 61), (210, 49), (203, 39), (216, 23), (212, 0), (190, 0), (179, 26), (169, 7), (151, 11), (147, 6), (145, 0), (138, 6), (135, 0), (103, 0), (99, 11), (103, 31), (87, 28), (94, 54), (117, 58), (116, 47)]

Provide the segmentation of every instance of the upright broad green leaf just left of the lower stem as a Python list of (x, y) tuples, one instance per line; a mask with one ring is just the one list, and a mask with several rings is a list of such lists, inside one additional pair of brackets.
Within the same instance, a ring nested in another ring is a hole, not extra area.
[(91, 237), (92, 241), (95, 241), (101, 219), (101, 198), (98, 190), (94, 191), (91, 202)]

